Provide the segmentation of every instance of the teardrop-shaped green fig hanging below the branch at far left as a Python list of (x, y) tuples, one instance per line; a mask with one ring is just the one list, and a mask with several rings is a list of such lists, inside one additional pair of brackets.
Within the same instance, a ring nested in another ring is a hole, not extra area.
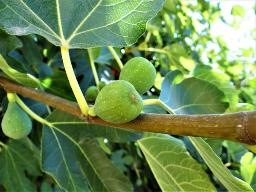
[(9, 102), (1, 125), (3, 133), (16, 140), (28, 136), (32, 129), (30, 117), (16, 102)]

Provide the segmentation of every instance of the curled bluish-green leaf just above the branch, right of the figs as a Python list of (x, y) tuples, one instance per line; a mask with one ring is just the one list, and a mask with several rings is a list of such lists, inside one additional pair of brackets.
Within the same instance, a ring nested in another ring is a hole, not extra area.
[(162, 83), (160, 100), (177, 114), (224, 113), (229, 106), (224, 93), (214, 84), (197, 78), (182, 79), (179, 70), (170, 71)]

